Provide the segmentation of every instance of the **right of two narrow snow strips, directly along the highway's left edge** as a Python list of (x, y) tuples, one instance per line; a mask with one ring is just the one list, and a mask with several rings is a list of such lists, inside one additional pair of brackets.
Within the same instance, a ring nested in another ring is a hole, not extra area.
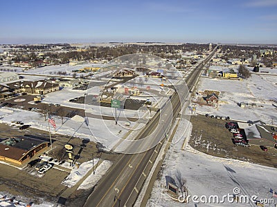
[(107, 170), (109, 170), (109, 168), (111, 167), (111, 164), (112, 164), (111, 161), (108, 161), (108, 160), (102, 161), (100, 166), (96, 168), (95, 174), (93, 175), (93, 173), (91, 173), (91, 175), (89, 175), (89, 177), (87, 177), (87, 179), (85, 179), (82, 182), (82, 184), (78, 187), (78, 190), (93, 188), (93, 186), (95, 186), (98, 183), (101, 177), (105, 175)]

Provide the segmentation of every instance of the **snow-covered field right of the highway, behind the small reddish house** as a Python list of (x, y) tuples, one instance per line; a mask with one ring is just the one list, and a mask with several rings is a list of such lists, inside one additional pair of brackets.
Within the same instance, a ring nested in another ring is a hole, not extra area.
[[(274, 115), (276, 108), (272, 106), (272, 100), (277, 99), (277, 76), (270, 77), (270, 81), (265, 76), (256, 74), (243, 81), (202, 77), (198, 90), (220, 91), (220, 102), (218, 108), (198, 106), (197, 112), (229, 116), (231, 119), (243, 121), (260, 120), (266, 124), (277, 124)], [(241, 102), (256, 103), (257, 107), (240, 108), (238, 103)]]

